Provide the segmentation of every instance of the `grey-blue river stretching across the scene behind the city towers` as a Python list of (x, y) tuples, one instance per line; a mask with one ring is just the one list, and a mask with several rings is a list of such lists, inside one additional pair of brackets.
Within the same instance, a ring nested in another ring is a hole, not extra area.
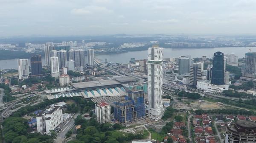
[[(222, 53), (235, 53), (239, 58), (243, 58), (244, 54), (249, 52), (249, 47), (226, 47), (226, 48), (164, 48), (163, 56), (164, 58), (179, 57), (182, 55), (191, 55), (192, 58), (207, 56), (211, 58), (213, 53), (221, 51)], [(253, 48), (253, 51), (256, 48)], [(131, 58), (135, 59), (147, 59), (148, 51), (130, 51), (126, 53), (116, 53), (116, 54), (105, 54), (96, 55), (96, 58), (108, 60), (108, 62), (118, 62), (118, 63), (128, 63)], [(87, 58), (86, 58), (87, 59)], [(45, 59), (42, 58), (42, 64), (44, 65)], [(1, 69), (17, 69), (17, 59), (0, 60)]]

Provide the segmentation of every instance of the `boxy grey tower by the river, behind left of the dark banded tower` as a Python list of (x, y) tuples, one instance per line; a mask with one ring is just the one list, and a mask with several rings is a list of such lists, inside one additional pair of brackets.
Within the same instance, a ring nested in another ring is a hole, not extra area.
[(189, 73), (191, 56), (180, 56), (178, 59), (179, 64), (179, 75)]

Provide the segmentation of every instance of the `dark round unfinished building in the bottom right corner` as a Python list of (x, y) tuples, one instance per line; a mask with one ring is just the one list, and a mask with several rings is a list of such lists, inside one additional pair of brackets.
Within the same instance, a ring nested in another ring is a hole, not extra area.
[(240, 120), (229, 123), (225, 143), (256, 143), (256, 122)]

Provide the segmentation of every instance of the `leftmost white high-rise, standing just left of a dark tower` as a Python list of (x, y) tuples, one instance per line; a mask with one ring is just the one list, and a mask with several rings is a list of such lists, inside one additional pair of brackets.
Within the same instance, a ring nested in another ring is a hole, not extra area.
[(19, 79), (27, 79), (29, 77), (29, 59), (18, 59)]

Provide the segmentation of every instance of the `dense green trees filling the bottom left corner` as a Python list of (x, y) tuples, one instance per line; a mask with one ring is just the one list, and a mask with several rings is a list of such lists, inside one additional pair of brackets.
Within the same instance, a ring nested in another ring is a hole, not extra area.
[(53, 143), (55, 134), (41, 135), (28, 133), (29, 125), (26, 119), (9, 117), (3, 122), (3, 133), (6, 143)]

